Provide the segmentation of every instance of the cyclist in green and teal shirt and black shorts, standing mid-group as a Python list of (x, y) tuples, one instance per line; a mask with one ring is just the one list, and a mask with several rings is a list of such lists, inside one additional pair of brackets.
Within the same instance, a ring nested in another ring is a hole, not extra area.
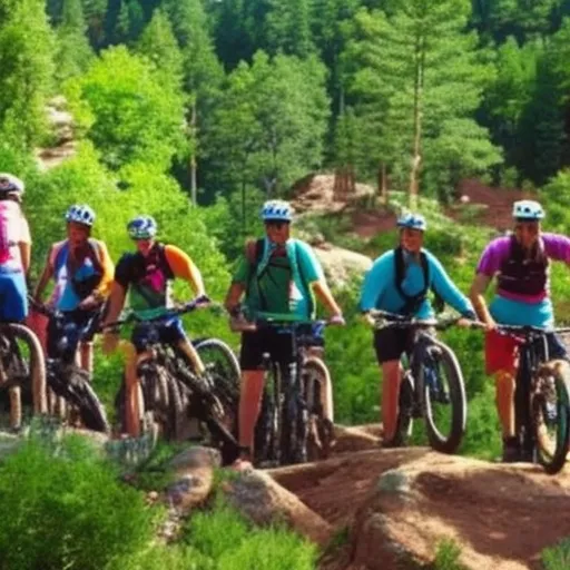
[[(313, 292), (332, 314), (332, 322), (344, 324), (342, 311), (328, 288), (321, 264), (311, 246), (289, 235), (293, 208), (287, 202), (269, 200), (262, 208), (265, 236), (246, 244), (245, 254), (226, 296), (226, 308), (234, 316), (245, 295), (248, 318), (264, 314), (306, 321), (314, 317)], [(292, 338), (272, 330), (245, 332), (242, 335), (238, 432), (244, 450), (237, 468), (248, 466), (252, 460), (254, 430), (259, 413), (264, 372), (259, 370), (263, 354), (286, 365), (293, 361)], [(326, 411), (332, 413), (332, 411)]]

